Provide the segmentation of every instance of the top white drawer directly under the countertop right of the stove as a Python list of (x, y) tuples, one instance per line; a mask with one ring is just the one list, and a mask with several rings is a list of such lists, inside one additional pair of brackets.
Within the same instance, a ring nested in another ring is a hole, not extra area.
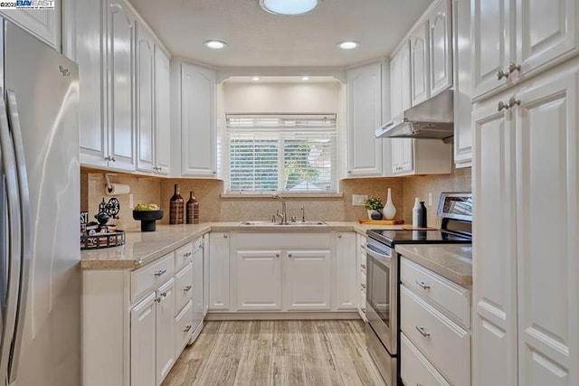
[(447, 310), (460, 325), (470, 327), (470, 291), (409, 259), (401, 259), (400, 279), (423, 297)]

